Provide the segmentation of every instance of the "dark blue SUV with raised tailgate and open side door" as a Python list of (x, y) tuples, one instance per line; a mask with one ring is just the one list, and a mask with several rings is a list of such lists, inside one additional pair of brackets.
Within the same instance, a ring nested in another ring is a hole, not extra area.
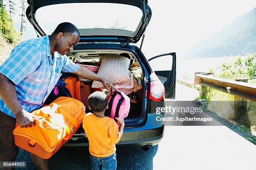
[[(164, 135), (164, 123), (156, 122), (152, 105), (164, 107), (164, 100), (175, 98), (176, 54), (166, 53), (146, 59), (141, 51), (144, 32), (151, 19), (147, 0), (28, 0), (26, 15), (37, 34), (44, 36), (61, 21), (79, 28), (80, 40), (67, 57), (98, 60), (100, 56), (127, 53), (143, 72), (138, 103), (125, 118), (125, 129), (118, 148), (148, 150)], [(38, 35), (38, 36), (39, 36)], [(169, 66), (165, 69), (164, 65)], [(164, 113), (160, 116), (164, 117)], [(88, 146), (82, 128), (65, 146)]]

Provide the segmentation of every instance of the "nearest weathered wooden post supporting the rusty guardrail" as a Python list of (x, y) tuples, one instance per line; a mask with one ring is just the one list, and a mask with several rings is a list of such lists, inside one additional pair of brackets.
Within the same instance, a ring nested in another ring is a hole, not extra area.
[[(236, 81), (240, 82), (248, 82), (248, 79), (236, 79)], [(239, 120), (243, 115), (247, 114), (247, 100), (238, 96), (234, 96), (234, 113), (235, 113), (235, 121)], [(247, 116), (245, 116), (247, 118)], [(248, 119), (245, 120), (248, 122)]]

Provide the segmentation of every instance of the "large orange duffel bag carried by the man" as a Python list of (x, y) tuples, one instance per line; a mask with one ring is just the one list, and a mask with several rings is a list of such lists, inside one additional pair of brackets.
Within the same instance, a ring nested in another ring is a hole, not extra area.
[(14, 143), (43, 159), (51, 158), (74, 135), (85, 115), (84, 104), (70, 97), (59, 97), (32, 113), (43, 118), (31, 128), (16, 124)]

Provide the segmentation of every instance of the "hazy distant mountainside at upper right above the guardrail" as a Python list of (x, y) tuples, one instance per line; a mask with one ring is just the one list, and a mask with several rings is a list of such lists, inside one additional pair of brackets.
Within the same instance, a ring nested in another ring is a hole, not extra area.
[(256, 8), (212, 34), (187, 52), (185, 58), (223, 57), (256, 52)]

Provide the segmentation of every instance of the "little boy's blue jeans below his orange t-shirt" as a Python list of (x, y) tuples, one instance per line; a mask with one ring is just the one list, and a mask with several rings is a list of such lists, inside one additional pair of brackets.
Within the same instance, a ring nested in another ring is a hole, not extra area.
[(116, 153), (105, 158), (90, 155), (91, 170), (116, 170)]

